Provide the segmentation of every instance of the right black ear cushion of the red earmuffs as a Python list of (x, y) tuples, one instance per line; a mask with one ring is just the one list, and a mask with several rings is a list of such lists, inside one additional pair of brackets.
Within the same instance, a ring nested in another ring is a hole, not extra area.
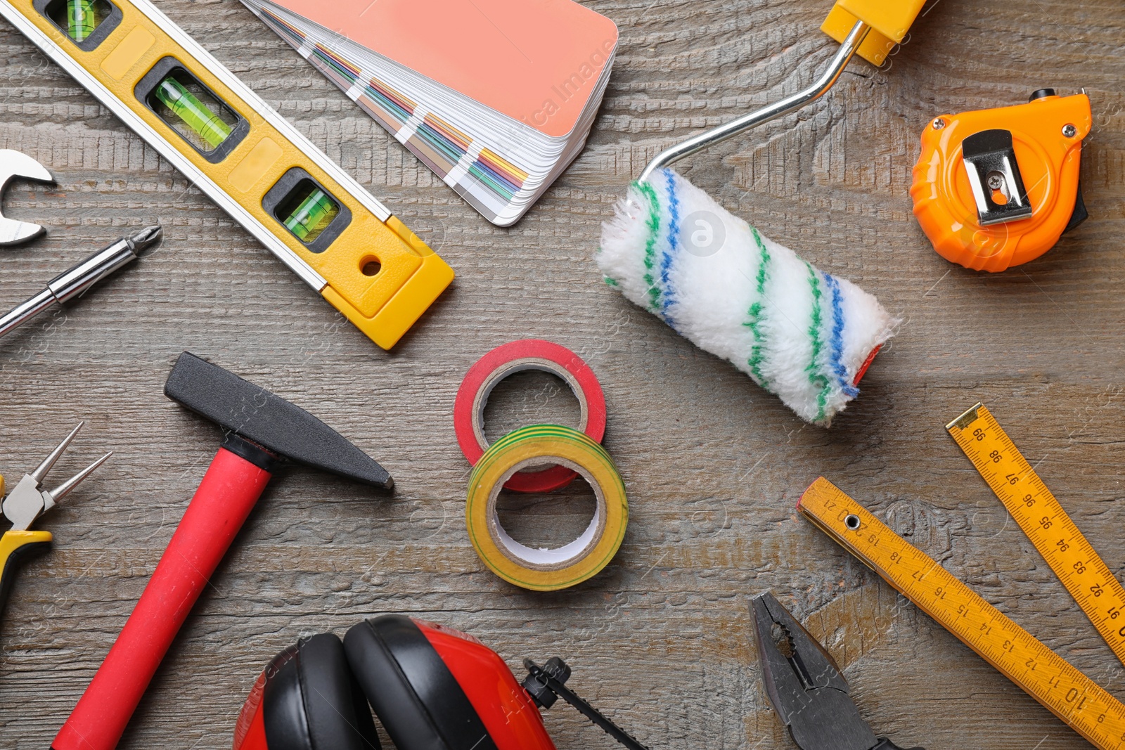
[[(344, 652), (398, 750), (496, 750), (461, 686), (410, 617), (359, 623), (344, 635)], [(277, 750), (272, 743), (270, 750)]]

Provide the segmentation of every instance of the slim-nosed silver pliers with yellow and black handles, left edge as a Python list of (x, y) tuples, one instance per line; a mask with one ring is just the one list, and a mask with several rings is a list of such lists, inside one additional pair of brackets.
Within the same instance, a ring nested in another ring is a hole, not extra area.
[(8, 591), (11, 589), (16, 562), (33, 553), (45, 552), (51, 546), (53, 539), (51, 532), (30, 531), (32, 524), (40, 515), (55, 507), (58, 500), (112, 455), (112, 452), (106, 453), (53, 490), (43, 489), (43, 480), (51, 471), (51, 467), (74, 440), (74, 435), (78, 434), (83, 424), (86, 423), (80, 422), (34, 471), (24, 475), (24, 478), (7, 497), (3, 497), (3, 477), (0, 477), (0, 497), (3, 497), (3, 501), (0, 503), (0, 513), (11, 523), (11, 528), (4, 532), (3, 536), (0, 536), (0, 611), (3, 609)]

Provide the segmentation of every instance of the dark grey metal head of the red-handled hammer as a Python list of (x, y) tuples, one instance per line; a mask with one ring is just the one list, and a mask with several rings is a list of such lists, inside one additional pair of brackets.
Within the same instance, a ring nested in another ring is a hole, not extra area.
[(281, 458), (390, 489), (390, 475), (312, 414), (190, 352), (180, 354), (164, 395)]

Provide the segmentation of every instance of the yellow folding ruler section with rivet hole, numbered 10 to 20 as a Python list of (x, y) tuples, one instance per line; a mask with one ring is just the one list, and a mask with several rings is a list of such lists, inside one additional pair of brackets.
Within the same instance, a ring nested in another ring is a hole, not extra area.
[(838, 487), (821, 477), (796, 507), (1095, 747), (1125, 748), (1125, 705)]

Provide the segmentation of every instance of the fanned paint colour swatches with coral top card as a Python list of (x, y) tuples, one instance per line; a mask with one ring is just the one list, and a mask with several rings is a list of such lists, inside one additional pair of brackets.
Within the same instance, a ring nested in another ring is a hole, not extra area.
[(242, 0), (485, 218), (586, 143), (618, 29), (573, 0)]

